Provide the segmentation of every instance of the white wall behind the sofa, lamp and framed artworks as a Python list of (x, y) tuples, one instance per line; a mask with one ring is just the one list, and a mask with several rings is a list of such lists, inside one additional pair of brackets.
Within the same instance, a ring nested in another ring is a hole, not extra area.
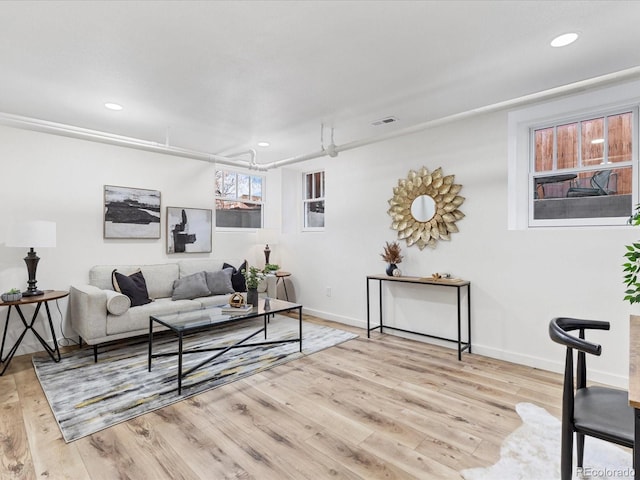
[[(86, 283), (89, 268), (96, 264), (150, 264), (181, 258), (239, 258), (263, 262), (256, 234), (216, 232), (211, 254), (166, 253), (165, 207), (214, 207), (214, 165), (162, 154), (87, 142), (49, 134), (0, 127), (0, 218), (3, 226), (12, 219), (52, 220), (57, 224), (56, 248), (36, 249), (41, 260), (37, 280), (41, 289), (68, 290)], [(272, 209), (268, 223), (279, 222), (279, 179), (274, 179)], [(159, 240), (105, 240), (103, 238), (103, 187), (120, 185), (161, 192), (161, 238)], [(269, 191), (267, 190), (267, 195)], [(26, 288), (23, 261), (26, 248), (3, 244), (0, 227), (0, 290)], [(68, 336), (67, 299), (55, 305), (52, 316), (57, 335), (60, 323)], [(4, 326), (6, 307), (0, 308)], [(30, 307), (23, 308), (28, 319)], [(42, 309), (44, 312), (44, 309)], [(41, 315), (42, 316), (42, 315)], [(11, 315), (9, 345), (21, 329)], [(38, 330), (42, 332), (41, 322)], [(46, 338), (50, 338), (46, 335)], [(18, 354), (41, 350), (29, 333)], [(6, 354), (6, 350), (5, 350)]]

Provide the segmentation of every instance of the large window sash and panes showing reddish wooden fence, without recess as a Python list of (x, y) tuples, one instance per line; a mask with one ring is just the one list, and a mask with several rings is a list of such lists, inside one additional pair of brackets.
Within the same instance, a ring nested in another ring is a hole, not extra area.
[(530, 129), (530, 225), (608, 223), (632, 209), (636, 109)]

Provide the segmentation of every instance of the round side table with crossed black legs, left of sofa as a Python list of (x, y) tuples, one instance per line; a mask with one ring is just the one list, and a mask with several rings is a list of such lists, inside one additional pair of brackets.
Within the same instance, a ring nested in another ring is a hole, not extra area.
[[(38, 341), (42, 344), (42, 346), (44, 347), (45, 351), (49, 354), (51, 359), (54, 362), (59, 362), (60, 361), (60, 348), (58, 347), (58, 340), (56, 339), (56, 332), (55, 332), (55, 329), (53, 328), (53, 321), (51, 320), (51, 312), (49, 311), (48, 302), (50, 302), (51, 300), (58, 300), (59, 298), (64, 298), (67, 295), (69, 295), (69, 292), (65, 292), (65, 291), (61, 291), (61, 290), (45, 290), (44, 294), (42, 294), (42, 295), (35, 295), (35, 296), (32, 296), (32, 297), (22, 297), (20, 300), (18, 300), (16, 302), (2, 302), (2, 301), (0, 301), (0, 307), (7, 307), (7, 306), (9, 307), (8, 310), (7, 310), (7, 320), (6, 320), (5, 324), (4, 324), (4, 332), (2, 334), (2, 346), (0, 347), (0, 362), (3, 363), (3, 368), (2, 368), (2, 371), (0, 372), (0, 375), (4, 375), (4, 372), (9, 367), (9, 364), (11, 363), (11, 360), (13, 359), (13, 356), (16, 354), (16, 351), (18, 350), (18, 347), (20, 346), (20, 343), (22, 343), (22, 339), (24, 338), (24, 336), (27, 334), (27, 331), (29, 331), (29, 330), (31, 330), (33, 332), (33, 334), (38, 339)], [(20, 309), (20, 306), (28, 305), (28, 304), (31, 304), (31, 303), (35, 303), (36, 304), (36, 309), (33, 312), (33, 316), (31, 317), (31, 322), (27, 323), (27, 320), (24, 318), (24, 314), (22, 313), (22, 310)], [(47, 343), (47, 341), (44, 338), (42, 338), (42, 336), (33, 328), (33, 325), (36, 322), (36, 319), (38, 318), (38, 313), (40, 312), (40, 307), (43, 304), (44, 304), (45, 310), (47, 311), (47, 319), (49, 320), (49, 329), (51, 330), (51, 338), (53, 339), (53, 347), (51, 347)], [(20, 316), (20, 320), (22, 320), (22, 324), (24, 325), (24, 330), (22, 331), (22, 333), (18, 337), (18, 340), (16, 340), (16, 343), (11, 347), (11, 349), (9, 350), (7, 355), (3, 356), (4, 355), (4, 345), (5, 345), (6, 340), (7, 340), (7, 330), (9, 329), (9, 319), (11, 317), (11, 309), (14, 308), (14, 307), (15, 307), (16, 311), (18, 312), (18, 315)]]

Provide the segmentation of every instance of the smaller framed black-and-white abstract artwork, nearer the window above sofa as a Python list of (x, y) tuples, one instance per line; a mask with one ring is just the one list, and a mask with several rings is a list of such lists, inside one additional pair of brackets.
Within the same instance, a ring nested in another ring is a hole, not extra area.
[(211, 252), (212, 211), (167, 207), (167, 253)]

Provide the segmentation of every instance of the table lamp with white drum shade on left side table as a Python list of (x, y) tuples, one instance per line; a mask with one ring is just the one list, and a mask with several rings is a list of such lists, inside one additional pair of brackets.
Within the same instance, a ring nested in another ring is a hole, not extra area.
[(36, 269), (40, 257), (36, 255), (34, 247), (56, 246), (56, 224), (43, 220), (16, 222), (9, 225), (5, 242), (7, 247), (27, 247), (29, 252), (24, 257), (27, 264), (29, 281), (27, 291), (22, 292), (23, 297), (42, 295), (44, 292), (36, 288)]

